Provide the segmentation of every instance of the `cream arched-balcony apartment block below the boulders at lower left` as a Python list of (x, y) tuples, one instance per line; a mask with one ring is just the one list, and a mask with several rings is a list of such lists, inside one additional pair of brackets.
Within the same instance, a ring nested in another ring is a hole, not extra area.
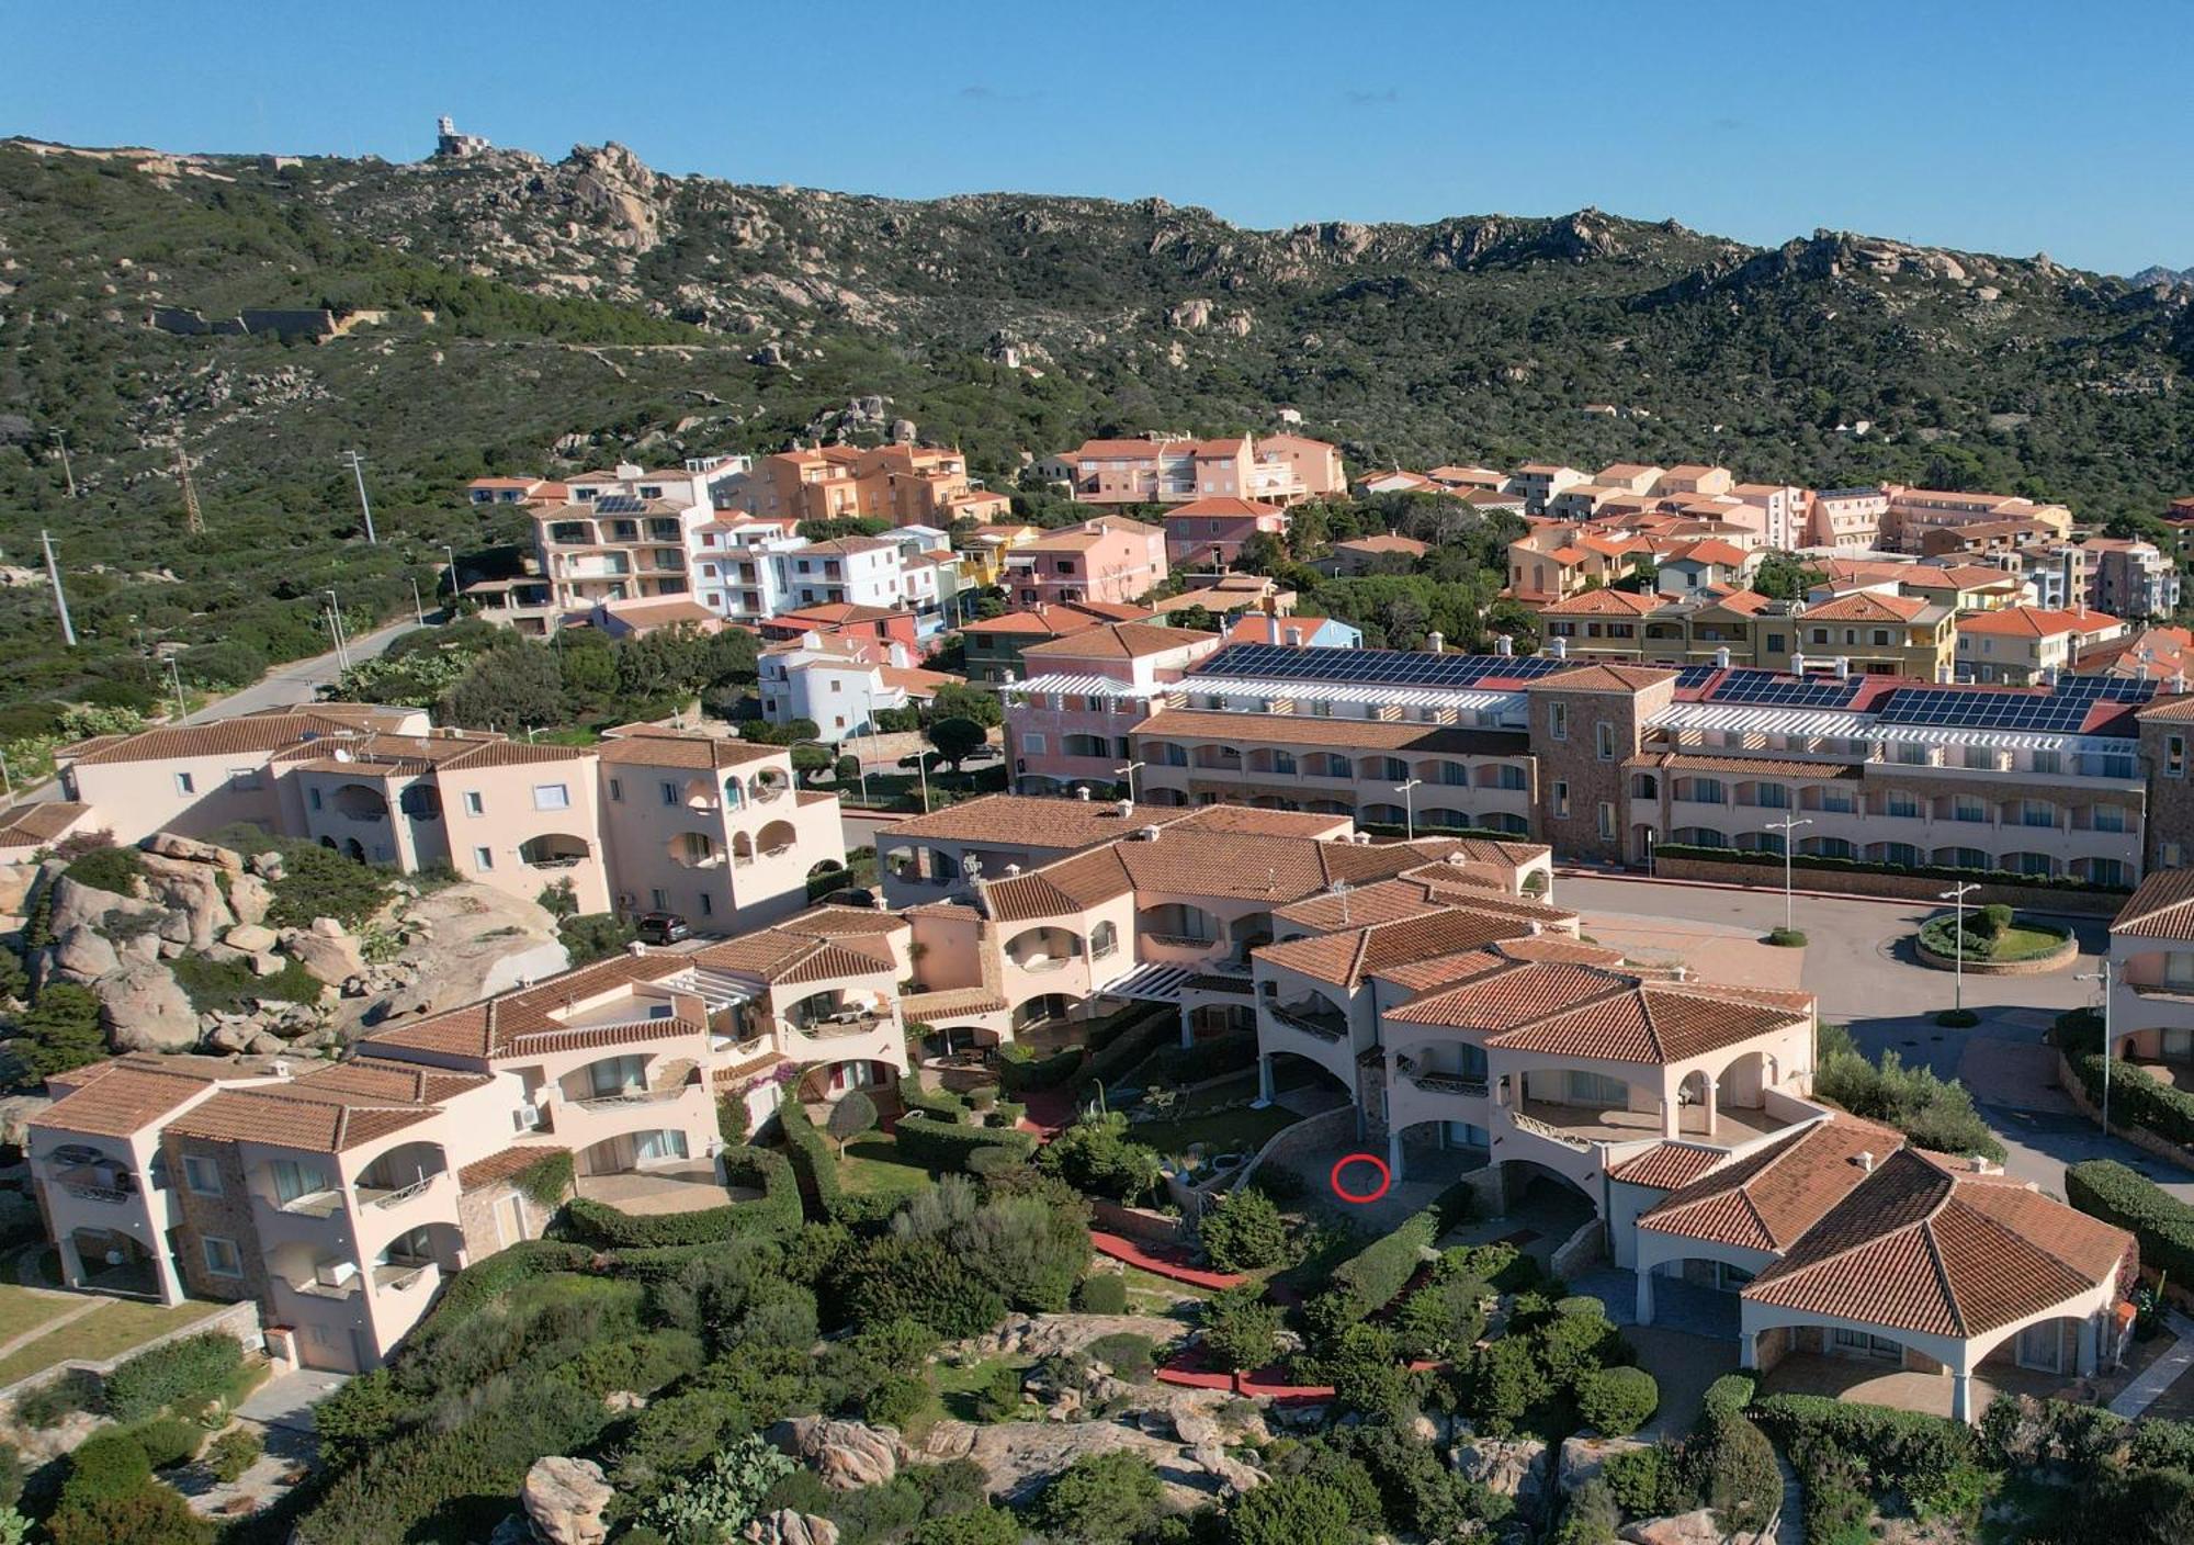
[[(540, 1236), (522, 1183), (720, 1203), (717, 1102), (889, 1097), (908, 924), (814, 909), (371, 1029), (342, 1062), (123, 1056), (50, 1080), (26, 1159), (70, 1286), (257, 1299), (276, 1352), (380, 1367), (454, 1271)], [(777, 1069), (810, 1071), (781, 1093)]]

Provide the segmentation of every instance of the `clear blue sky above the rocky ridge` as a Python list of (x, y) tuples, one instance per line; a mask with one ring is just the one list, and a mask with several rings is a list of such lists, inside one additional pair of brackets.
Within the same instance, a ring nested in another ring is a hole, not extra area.
[(0, 134), (2194, 263), (2194, 0), (0, 0)]

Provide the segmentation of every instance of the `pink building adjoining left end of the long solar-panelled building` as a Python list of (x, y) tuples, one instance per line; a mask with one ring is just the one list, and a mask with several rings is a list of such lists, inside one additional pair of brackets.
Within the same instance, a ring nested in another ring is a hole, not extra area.
[(1029, 678), (1005, 689), (1014, 788), (1044, 794), (1126, 781), (1128, 731), (1222, 643), (1213, 632), (1112, 623), (1022, 650)]

